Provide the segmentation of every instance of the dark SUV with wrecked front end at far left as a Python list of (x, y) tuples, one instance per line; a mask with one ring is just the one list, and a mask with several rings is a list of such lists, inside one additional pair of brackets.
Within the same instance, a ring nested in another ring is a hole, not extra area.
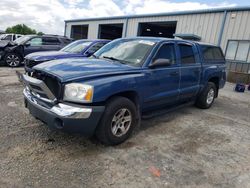
[(10, 67), (19, 66), (24, 57), (38, 51), (55, 51), (72, 42), (58, 35), (25, 35), (13, 42), (0, 41), (0, 63)]

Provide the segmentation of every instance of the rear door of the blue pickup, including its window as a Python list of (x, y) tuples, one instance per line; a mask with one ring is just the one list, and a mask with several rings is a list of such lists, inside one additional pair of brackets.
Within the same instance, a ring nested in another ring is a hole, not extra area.
[(180, 60), (180, 100), (196, 96), (200, 88), (201, 64), (197, 48), (188, 42), (178, 43)]

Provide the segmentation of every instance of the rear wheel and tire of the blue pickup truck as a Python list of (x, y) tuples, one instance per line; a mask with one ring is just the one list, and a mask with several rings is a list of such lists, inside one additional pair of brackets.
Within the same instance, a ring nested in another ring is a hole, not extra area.
[(217, 95), (217, 88), (213, 82), (208, 82), (196, 100), (196, 106), (201, 109), (208, 109), (212, 106)]

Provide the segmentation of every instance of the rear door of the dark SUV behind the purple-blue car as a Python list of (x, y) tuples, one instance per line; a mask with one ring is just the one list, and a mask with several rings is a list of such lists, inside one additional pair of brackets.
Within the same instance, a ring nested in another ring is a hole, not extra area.
[(43, 37), (42, 44), (42, 51), (58, 51), (61, 49), (61, 42), (56, 37)]

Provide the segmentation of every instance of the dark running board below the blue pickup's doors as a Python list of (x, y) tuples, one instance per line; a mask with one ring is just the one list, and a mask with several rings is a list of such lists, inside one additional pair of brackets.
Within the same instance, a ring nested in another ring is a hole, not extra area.
[(166, 107), (166, 109), (160, 109), (160, 110), (155, 110), (152, 112), (144, 113), (144, 114), (142, 114), (142, 119), (150, 119), (150, 118), (154, 118), (157, 116), (162, 116), (162, 115), (165, 115), (169, 112), (172, 112), (172, 111), (175, 111), (175, 110), (178, 110), (180, 108), (190, 106), (190, 105), (194, 105), (194, 101), (180, 104), (180, 105), (174, 106), (174, 107), (168, 107), (168, 108)]

